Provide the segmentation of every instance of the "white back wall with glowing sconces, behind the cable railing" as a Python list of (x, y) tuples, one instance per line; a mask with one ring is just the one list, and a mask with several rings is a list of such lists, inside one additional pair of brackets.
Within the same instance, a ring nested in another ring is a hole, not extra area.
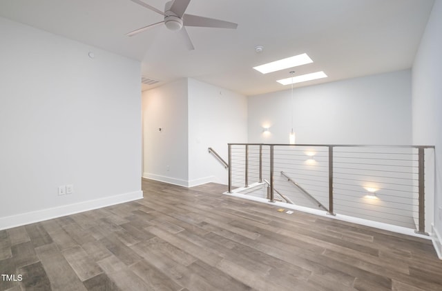
[[(402, 70), (298, 88), (294, 90), (293, 100), (290, 89), (252, 96), (249, 97), (249, 142), (289, 143), (293, 108), (297, 144), (411, 145), (411, 92), (411, 70)], [(262, 128), (267, 126), (269, 132), (262, 132)], [(276, 174), (273, 177), (276, 188), (287, 197), (294, 192), (294, 188), (287, 185), (287, 179), (279, 174), (280, 170), (284, 170), (321, 203), (328, 205), (327, 148), (311, 150), (296, 147), (280, 152), (278, 149), (281, 148), (276, 148)], [(297, 152), (289, 154), (290, 150)], [(306, 151), (318, 153), (314, 164), (306, 164), (309, 159)], [(390, 152), (389, 149), (365, 148), (362, 154), (354, 153), (349, 157), (347, 151), (357, 152), (358, 148), (334, 148), (334, 166), (339, 168), (334, 175), (334, 211), (413, 228), (413, 173), (397, 173), (398, 177), (396, 173), (390, 173), (398, 168), (390, 167), (396, 163), (395, 156), (385, 154)], [(378, 151), (383, 153), (381, 157), (378, 157)], [(405, 150), (401, 157), (411, 159), (410, 150)], [(388, 167), (374, 168), (367, 163), (369, 159), (376, 158), (376, 162), (385, 163)], [(352, 166), (348, 167), (348, 163)], [(410, 167), (410, 163), (403, 162), (401, 166)], [(403, 179), (407, 179), (406, 183)], [(404, 184), (399, 195), (390, 190), (392, 185), (398, 188), (398, 181)], [(368, 193), (365, 187), (373, 187), (367, 186), (369, 184), (376, 184), (378, 188), (376, 204), (365, 198)], [(397, 205), (392, 202), (392, 197), (406, 204)], [(302, 201), (302, 195), (291, 198), (298, 205), (305, 203), (305, 206), (311, 207), (311, 201)], [(358, 213), (354, 213), (354, 208), (359, 208)], [(403, 221), (401, 217), (405, 217)]]

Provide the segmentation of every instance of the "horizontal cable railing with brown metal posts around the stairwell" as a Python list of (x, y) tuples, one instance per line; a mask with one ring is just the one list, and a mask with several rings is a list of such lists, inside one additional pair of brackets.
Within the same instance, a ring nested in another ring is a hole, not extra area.
[(432, 162), (425, 150), (434, 154), (431, 145), (229, 143), (229, 192), (265, 181), (269, 194), (260, 195), (269, 201), (276, 193), (283, 202), (423, 234), (425, 199), (427, 209), (433, 199), (425, 198), (425, 163)]

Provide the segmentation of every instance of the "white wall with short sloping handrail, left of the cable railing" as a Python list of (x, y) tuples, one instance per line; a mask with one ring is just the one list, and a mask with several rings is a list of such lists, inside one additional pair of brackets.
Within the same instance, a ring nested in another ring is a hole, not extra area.
[(227, 143), (247, 142), (247, 97), (189, 79), (189, 183), (228, 183), (228, 171), (211, 157), (228, 161)]

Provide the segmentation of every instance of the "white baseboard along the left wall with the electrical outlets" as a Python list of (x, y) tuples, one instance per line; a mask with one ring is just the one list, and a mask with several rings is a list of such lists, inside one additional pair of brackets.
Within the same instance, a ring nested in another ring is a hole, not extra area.
[(0, 230), (7, 228), (15, 228), (17, 226), (64, 217), (66, 215), (104, 208), (119, 203), (134, 201), (143, 198), (143, 192), (135, 191), (124, 194), (118, 194), (111, 197), (101, 199), (88, 200), (69, 205), (62, 205), (56, 208), (47, 208), (22, 214), (12, 215), (10, 217), (0, 217)]

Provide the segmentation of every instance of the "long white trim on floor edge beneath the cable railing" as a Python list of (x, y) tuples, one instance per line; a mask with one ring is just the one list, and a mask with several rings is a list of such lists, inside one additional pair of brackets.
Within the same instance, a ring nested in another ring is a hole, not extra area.
[[(240, 188), (238, 188), (238, 189), (240, 189)], [(238, 189), (236, 189), (236, 191), (238, 191)], [(349, 217), (349, 216), (343, 215), (343, 214), (329, 215), (329, 214), (327, 214), (323, 210), (316, 210), (316, 209), (307, 208), (307, 207), (300, 206), (300, 205), (282, 203), (282, 202), (278, 202), (278, 201), (276, 201), (276, 202), (269, 202), (269, 200), (265, 199), (265, 198), (253, 197), (253, 196), (249, 196), (247, 194), (236, 193), (234, 191), (231, 192), (231, 193), (224, 192), (223, 194), (227, 194), (227, 195), (230, 195), (230, 196), (233, 196), (233, 197), (240, 197), (240, 198), (244, 198), (244, 199), (258, 201), (258, 202), (262, 202), (262, 203), (267, 203), (267, 204), (270, 204), (270, 205), (276, 205), (276, 206), (278, 206), (280, 208), (289, 208), (289, 209), (298, 210), (298, 211), (301, 211), (301, 212), (307, 212), (307, 213), (319, 215), (321, 217), (328, 217), (328, 218), (331, 218), (331, 219), (338, 219), (338, 220), (342, 220), (342, 221), (348, 221), (348, 222), (351, 222), (351, 223), (361, 224), (361, 225), (369, 226), (369, 227), (372, 227), (372, 228), (378, 228), (378, 229), (381, 229), (381, 230), (388, 230), (390, 232), (397, 232), (397, 233), (400, 233), (400, 234), (407, 234), (407, 235), (411, 235), (412, 237), (421, 237), (422, 239), (431, 239), (430, 236), (415, 233), (414, 230), (412, 230), (411, 228), (403, 228), (401, 226), (391, 225), (391, 224), (388, 224), (388, 223), (371, 221), (371, 220), (368, 220), (368, 219), (360, 219), (360, 218), (356, 218), (356, 217)]]

